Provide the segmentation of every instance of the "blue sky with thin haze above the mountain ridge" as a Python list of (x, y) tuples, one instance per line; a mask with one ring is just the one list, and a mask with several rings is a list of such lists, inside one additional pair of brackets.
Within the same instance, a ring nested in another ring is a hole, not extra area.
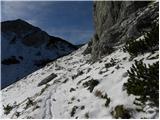
[(3, 1), (2, 21), (23, 19), (73, 44), (93, 35), (92, 1)]

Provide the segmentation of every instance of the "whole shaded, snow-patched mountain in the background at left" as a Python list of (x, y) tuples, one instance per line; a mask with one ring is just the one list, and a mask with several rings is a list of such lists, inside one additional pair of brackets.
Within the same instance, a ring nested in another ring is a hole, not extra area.
[(2, 88), (76, 49), (20, 19), (2, 22), (1, 26)]

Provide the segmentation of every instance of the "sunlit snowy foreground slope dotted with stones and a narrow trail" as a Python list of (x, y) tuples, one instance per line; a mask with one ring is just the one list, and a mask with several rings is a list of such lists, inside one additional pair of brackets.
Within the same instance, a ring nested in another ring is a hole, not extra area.
[[(144, 58), (145, 63), (152, 64), (158, 59), (149, 60), (151, 54), (147, 53), (131, 61), (130, 55), (118, 46), (115, 52), (91, 64), (90, 54), (82, 54), (86, 47), (3, 89), (2, 104), (13, 108), (4, 114), (1, 107), (2, 118), (113, 118), (111, 112), (117, 105), (129, 109), (131, 118), (158, 118), (156, 108), (146, 107), (144, 112), (136, 111), (137, 106), (133, 104), (135, 97), (122, 90), (123, 83), (128, 79), (127, 70), (134, 60)], [(157, 54), (158, 51), (150, 57)], [(105, 64), (111, 61), (115, 64), (106, 68)], [(53, 77), (53, 74), (57, 76)], [(46, 80), (48, 76), (51, 79)], [(96, 81), (92, 88), (87, 87), (90, 80)], [(45, 84), (40, 84), (44, 81)], [(110, 98), (108, 106), (106, 95)]]

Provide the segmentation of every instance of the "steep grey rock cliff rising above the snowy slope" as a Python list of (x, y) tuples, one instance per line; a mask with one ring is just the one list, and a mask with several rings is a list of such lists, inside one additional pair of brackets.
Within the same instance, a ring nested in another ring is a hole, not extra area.
[(111, 53), (116, 45), (141, 36), (158, 18), (158, 8), (158, 3), (148, 1), (94, 2), (96, 32), (85, 53), (97, 60)]

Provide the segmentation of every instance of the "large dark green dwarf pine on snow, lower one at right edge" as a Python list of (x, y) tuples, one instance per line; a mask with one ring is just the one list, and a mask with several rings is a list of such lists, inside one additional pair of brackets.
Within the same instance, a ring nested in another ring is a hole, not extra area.
[(142, 61), (135, 61), (127, 72), (129, 78), (124, 83), (124, 90), (138, 96), (135, 101), (140, 102), (139, 105), (149, 101), (150, 105), (159, 106), (159, 62), (147, 66)]

